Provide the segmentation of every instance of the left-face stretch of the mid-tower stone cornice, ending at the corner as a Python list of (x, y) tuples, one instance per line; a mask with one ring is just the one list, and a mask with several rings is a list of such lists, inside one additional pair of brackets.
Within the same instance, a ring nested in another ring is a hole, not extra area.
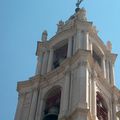
[[(78, 65), (83, 65), (83, 66), (86, 65), (87, 64), (86, 62), (90, 61), (90, 54), (91, 54), (90, 51), (79, 49), (71, 58), (65, 59), (58, 68), (50, 71), (49, 73), (43, 76), (36, 75), (29, 78), (29, 80), (18, 82), (17, 91), (20, 92), (22, 90), (24, 91), (24, 89), (33, 89), (34, 87), (39, 86), (41, 83), (46, 82), (46, 80), (49, 82), (49, 80), (51, 80), (55, 76), (64, 77), (68, 69), (69, 71), (73, 69), (73, 67), (71, 66), (77, 68)], [(66, 66), (68, 66), (68, 68), (66, 68)]]

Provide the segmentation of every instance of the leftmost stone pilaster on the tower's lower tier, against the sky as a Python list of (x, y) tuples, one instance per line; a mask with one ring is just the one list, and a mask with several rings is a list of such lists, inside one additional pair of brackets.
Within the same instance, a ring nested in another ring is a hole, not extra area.
[(22, 113), (23, 103), (24, 103), (24, 94), (19, 94), (17, 110), (16, 110), (16, 114), (15, 114), (15, 119), (14, 120), (21, 120), (21, 113)]

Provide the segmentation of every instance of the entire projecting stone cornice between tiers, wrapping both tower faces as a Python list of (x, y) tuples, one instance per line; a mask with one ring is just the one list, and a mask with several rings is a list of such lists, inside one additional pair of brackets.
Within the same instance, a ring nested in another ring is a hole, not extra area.
[(22, 89), (26, 88), (34, 88), (35, 86), (38, 86), (46, 81), (50, 83), (51, 79), (55, 76), (62, 78), (66, 72), (72, 71), (79, 66), (86, 67), (86, 65), (89, 65), (92, 71), (96, 71), (97, 81), (100, 82), (103, 86), (107, 86), (108, 90), (111, 90), (111, 86), (104, 78), (101, 68), (98, 65), (94, 64), (91, 51), (78, 49), (78, 51), (72, 57), (65, 59), (58, 68), (50, 71), (44, 76), (36, 75), (27, 81), (18, 82), (17, 91), (19, 92)]

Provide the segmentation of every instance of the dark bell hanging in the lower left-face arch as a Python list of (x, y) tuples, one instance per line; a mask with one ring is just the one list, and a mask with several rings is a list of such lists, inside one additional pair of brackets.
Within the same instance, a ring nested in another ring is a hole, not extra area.
[(57, 120), (58, 114), (59, 114), (58, 107), (53, 106), (48, 110), (48, 113), (44, 116), (43, 120)]

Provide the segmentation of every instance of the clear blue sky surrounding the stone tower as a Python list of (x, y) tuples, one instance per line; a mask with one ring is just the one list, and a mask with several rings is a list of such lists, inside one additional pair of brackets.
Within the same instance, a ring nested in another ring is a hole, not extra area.
[[(37, 41), (43, 30), (49, 38), (59, 20), (74, 13), (77, 0), (0, 0), (0, 119), (13, 120), (18, 81), (33, 76)], [(81, 5), (93, 21), (99, 36), (110, 40), (118, 54), (116, 85), (120, 88), (120, 0), (84, 0)]]

